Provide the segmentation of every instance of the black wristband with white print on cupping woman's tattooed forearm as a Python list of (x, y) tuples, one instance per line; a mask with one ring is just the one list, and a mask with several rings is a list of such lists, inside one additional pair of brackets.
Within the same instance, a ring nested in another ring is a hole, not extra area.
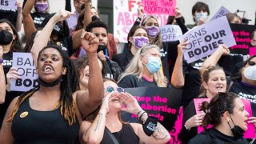
[(151, 136), (154, 134), (154, 130), (156, 129), (158, 125), (158, 118), (149, 116), (146, 119), (146, 122), (142, 125), (143, 130), (147, 136)]

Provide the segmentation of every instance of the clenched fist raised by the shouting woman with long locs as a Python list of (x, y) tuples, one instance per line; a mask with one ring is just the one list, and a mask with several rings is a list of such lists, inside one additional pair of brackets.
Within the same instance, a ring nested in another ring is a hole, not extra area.
[(95, 34), (83, 30), (81, 35), (81, 43), (87, 54), (97, 54), (99, 40)]

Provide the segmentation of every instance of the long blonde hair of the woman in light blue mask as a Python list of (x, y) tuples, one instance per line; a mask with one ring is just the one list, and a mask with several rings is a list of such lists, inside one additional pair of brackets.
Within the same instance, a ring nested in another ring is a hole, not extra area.
[[(138, 80), (142, 80), (142, 75), (144, 73), (144, 67), (142, 64), (141, 56), (146, 55), (148, 50), (157, 49), (159, 52), (159, 47), (156, 45), (144, 46), (137, 51), (134, 55), (134, 58), (130, 61), (129, 65), (127, 66), (125, 72), (119, 76), (118, 82), (122, 80), (122, 78), (126, 77), (130, 74), (135, 74), (138, 77)], [(164, 75), (162, 74), (161, 70), (158, 70), (154, 73), (154, 82), (157, 83), (158, 87), (166, 87), (166, 82), (163, 82)]]

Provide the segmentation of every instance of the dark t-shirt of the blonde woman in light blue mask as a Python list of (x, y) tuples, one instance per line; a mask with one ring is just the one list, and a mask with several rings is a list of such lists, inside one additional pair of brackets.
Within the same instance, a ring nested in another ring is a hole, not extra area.
[(143, 77), (142, 79), (138, 79), (137, 75), (135, 74), (126, 75), (126, 77), (122, 78), (122, 80), (118, 82), (118, 86), (122, 88), (158, 87), (156, 82), (150, 82)]

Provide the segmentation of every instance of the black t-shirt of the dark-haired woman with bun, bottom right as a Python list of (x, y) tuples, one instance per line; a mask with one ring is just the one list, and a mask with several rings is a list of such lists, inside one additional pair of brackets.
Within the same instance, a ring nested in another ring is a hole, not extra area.
[(196, 137), (188, 142), (189, 144), (224, 144), (224, 143), (239, 143), (239, 144), (247, 144), (245, 138), (234, 139), (234, 137), (227, 136), (222, 134), (218, 130), (211, 128), (206, 131), (202, 131), (202, 133), (198, 134)]

